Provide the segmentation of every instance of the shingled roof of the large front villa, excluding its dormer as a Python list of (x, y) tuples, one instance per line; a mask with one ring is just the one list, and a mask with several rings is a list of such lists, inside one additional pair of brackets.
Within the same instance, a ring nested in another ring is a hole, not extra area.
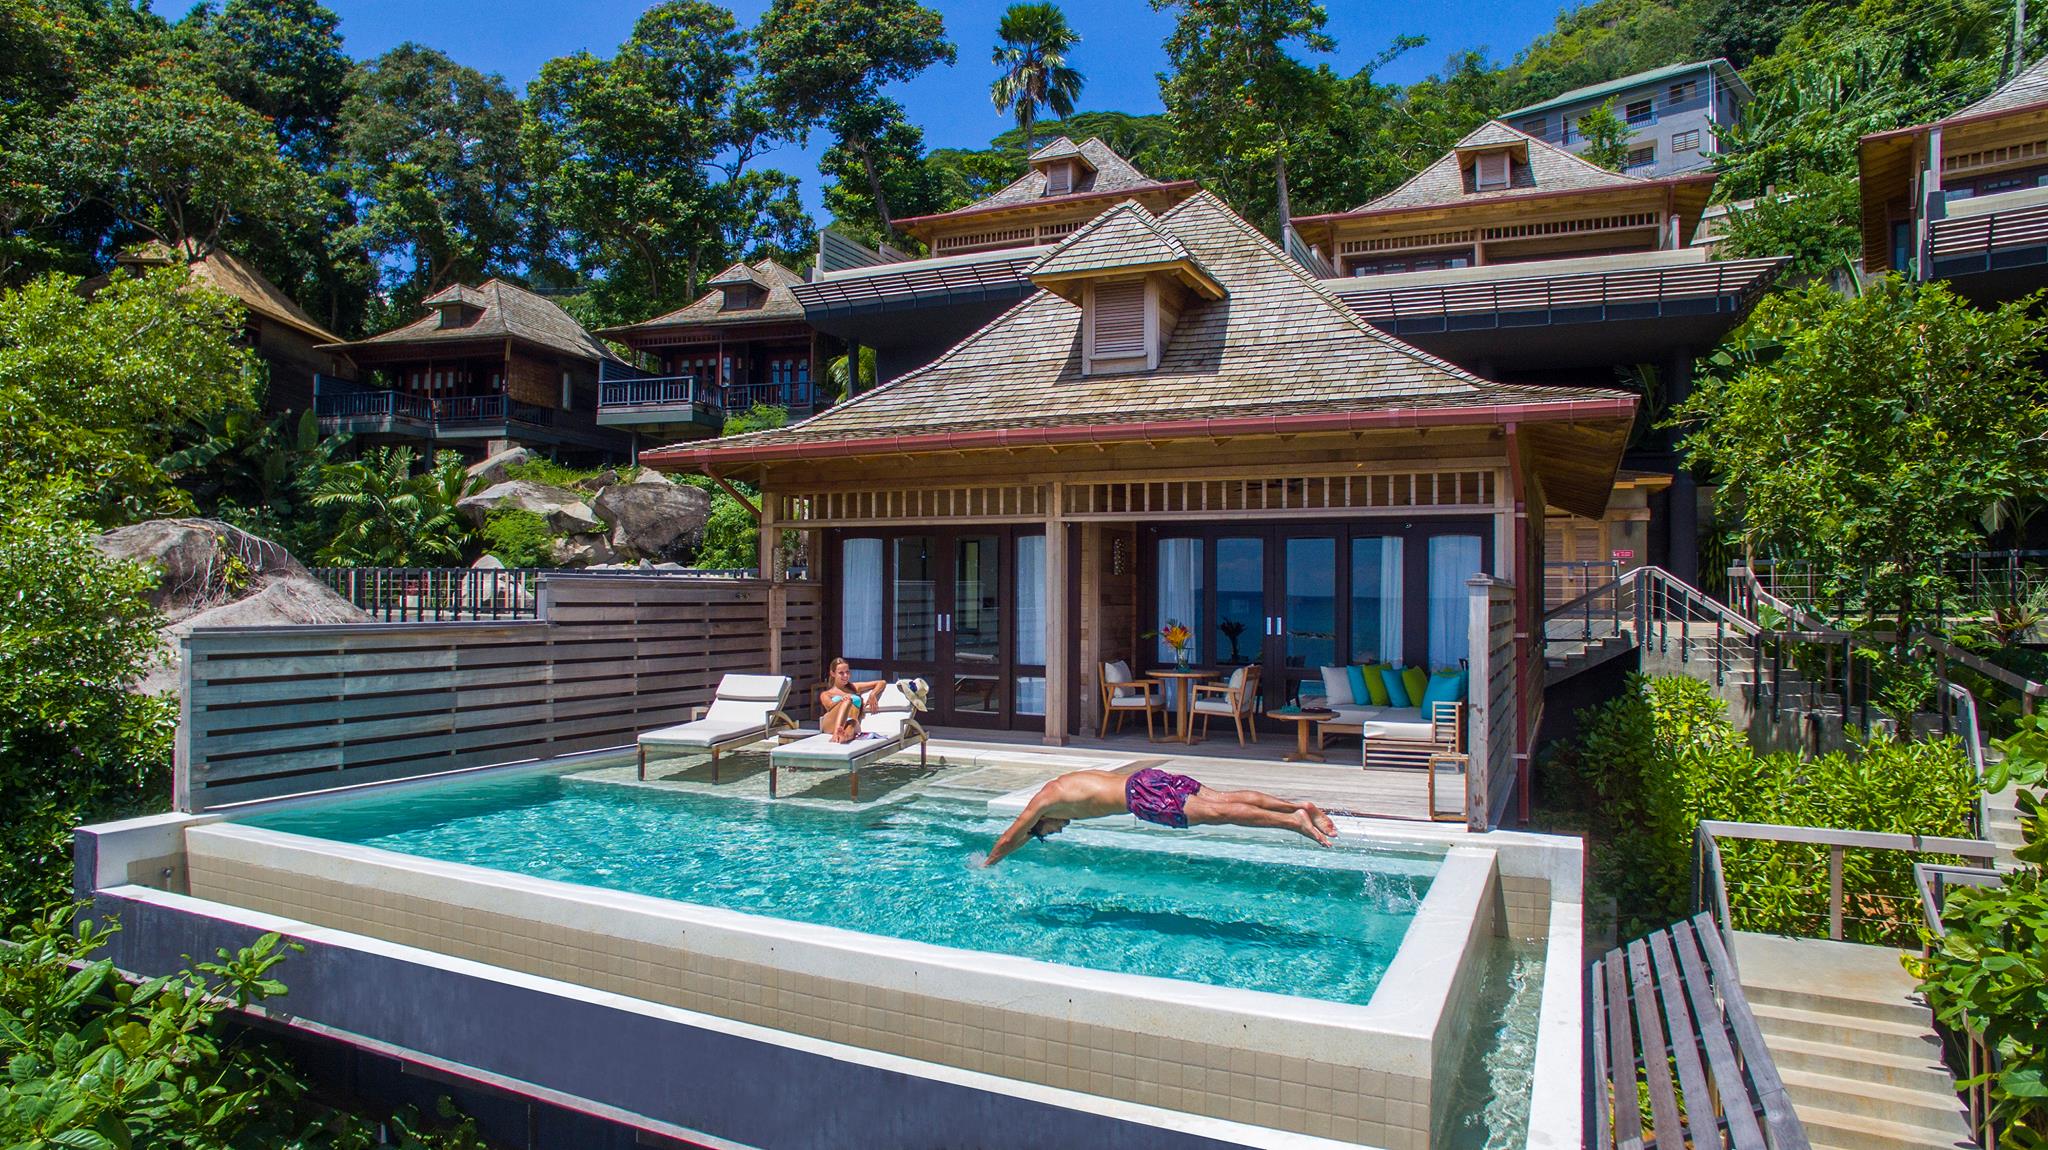
[(1491, 383), (1380, 334), (1208, 192), (1155, 227), (1229, 293), (1182, 311), (1157, 370), (1081, 374), (1081, 309), (1038, 291), (932, 364), (819, 415), (655, 454), (709, 467), (721, 452), (797, 458), (815, 444), (920, 434), (1530, 405), (1612, 417), (1616, 403), (1632, 405), (1604, 387)]

